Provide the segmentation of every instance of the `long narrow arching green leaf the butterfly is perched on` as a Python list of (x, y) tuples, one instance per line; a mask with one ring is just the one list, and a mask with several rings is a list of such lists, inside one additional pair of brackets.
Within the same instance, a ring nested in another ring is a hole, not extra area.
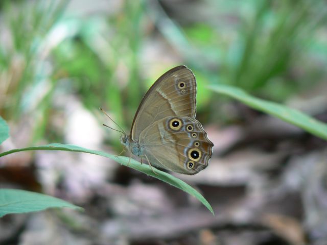
[(116, 162), (119, 162), (122, 165), (125, 165), (125, 166), (131, 167), (135, 170), (141, 171), (142, 173), (144, 173), (148, 176), (157, 178), (161, 181), (164, 181), (172, 186), (175, 186), (175, 187), (193, 195), (193, 197), (198, 199), (207, 209), (209, 209), (209, 211), (211, 211), (214, 214), (214, 211), (213, 211), (211, 205), (208, 203), (208, 201), (206, 201), (205, 198), (197, 190), (195, 190), (190, 185), (186, 184), (184, 181), (182, 181), (164, 171), (160, 171), (159, 169), (155, 169), (155, 173), (156, 173), (155, 174), (155, 173), (153, 173), (151, 167), (148, 164), (141, 164), (140, 162), (135, 161), (134, 159), (129, 159), (128, 157), (122, 157), (122, 156), (116, 157), (114, 155), (111, 155), (111, 154), (108, 154), (105, 152), (89, 150), (89, 149), (85, 149), (85, 148), (82, 148), (77, 145), (59, 144), (59, 143), (53, 143), (53, 144), (42, 145), (42, 146), (32, 146), (32, 147), (22, 148), (22, 149), (14, 149), (14, 150), (11, 150), (8, 152), (0, 153), (0, 157), (15, 153), (15, 152), (34, 151), (34, 150), (52, 150), (52, 151), (58, 151), (58, 150), (60, 151), (61, 150), (61, 151), (71, 151), (71, 152), (84, 152), (84, 153), (90, 153), (90, 154), (95, 154), (95, 155), (110, 158)]

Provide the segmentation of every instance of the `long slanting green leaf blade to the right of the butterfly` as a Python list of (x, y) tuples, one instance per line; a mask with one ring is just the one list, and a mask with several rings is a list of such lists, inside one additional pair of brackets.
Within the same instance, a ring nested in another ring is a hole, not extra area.
[(231, 96), (249, 107), (276, 116), (279, 119), (287, 121), (290, 124), (306, 130), (317, 137), (327, 140), (327, 125), (298, 110), (291, 109), (274, 102), (258, 99), (249, 95), (242, 89), (228, 85), (212, 85), (209, 88), (218, 93)]

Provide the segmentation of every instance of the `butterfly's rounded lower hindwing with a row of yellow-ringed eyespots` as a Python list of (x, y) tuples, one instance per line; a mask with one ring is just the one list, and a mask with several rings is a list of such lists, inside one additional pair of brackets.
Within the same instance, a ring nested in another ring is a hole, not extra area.
[(139, 135), (139, 144), (152, 165), (187, 175), (208, 165), (214, 145), (199, 121), (179, 116), (148, 126)]

